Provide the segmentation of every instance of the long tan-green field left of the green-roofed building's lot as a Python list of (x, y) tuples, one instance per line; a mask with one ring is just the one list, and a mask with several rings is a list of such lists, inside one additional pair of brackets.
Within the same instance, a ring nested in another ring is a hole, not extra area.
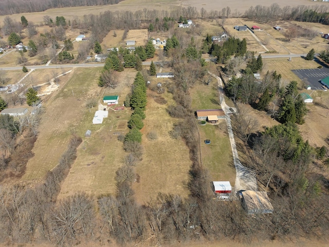
[[(40, 134), (22, 180), (43, 179), (48, 170), (57, 165), (72, 133), (76, 133), (87, 111), (85, 102), (97, 97), (96, 86), (100, 68), (75, 69), (67, 84), (55, 92), (46, 104), (46, 112), (39, 127)], [(72, 95), (72, 91), (74, 95)]]

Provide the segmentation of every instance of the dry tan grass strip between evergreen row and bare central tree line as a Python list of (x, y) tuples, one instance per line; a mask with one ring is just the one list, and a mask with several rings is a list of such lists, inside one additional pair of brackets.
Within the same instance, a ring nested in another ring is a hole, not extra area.
[[(155, 102), (156, 97), (165, 98), (167, 104)], [(173, 193), (181, 197), (188, 196), (184, 182), (188, 180), (188, 171), (191, 166), (189, 149), (184, 140), (174, 139), (169, 132), (173, 124), (179, 121), (169, 116), (167, 107), (173, 104), (172, 95), (164, 93), (157, 95), (148, 91), (148, 104), (145, 112), (142, 145), (144, 148), (143, 160), (136, 166), (139, 182), (133, 184), (136, 200), (147, 203), (155, 199), (159, 192)], [(149, 140), (147, 134), (156, 132), (158, 138)]]

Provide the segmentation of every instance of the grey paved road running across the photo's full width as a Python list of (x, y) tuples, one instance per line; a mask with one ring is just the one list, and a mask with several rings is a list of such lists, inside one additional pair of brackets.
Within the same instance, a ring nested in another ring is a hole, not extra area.
[[(9, 52), (8, 52), (9, 53)], [(306, 56), (307, 54), (261, 54), (263, 59), (270, 58), (296, 58), (301, 56)], [(258, 55), (255, 55), (256, 57)], [(206, 61), (212, 61), (213, 59), (207, 58)], [(160, 62), (155, 62), (158, 64)], [(143, 62), (143, 65), (150, 65), (151, 62)], [(28, 69), (38, 69), (38, 68), (79, 68), (79, 67), (103, 67), (104, 63), (83, 63), (83, 64), (58, 64), (58, 65), (34, 65), (26, 66)], [(0, 70), (17, 70), (22, 69), (22, 66), (11, 66), (11, 67), (0, 67)]]

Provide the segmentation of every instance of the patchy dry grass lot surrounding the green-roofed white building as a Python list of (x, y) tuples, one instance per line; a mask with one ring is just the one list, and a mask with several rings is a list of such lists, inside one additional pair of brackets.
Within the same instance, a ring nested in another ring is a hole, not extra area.
[[(119, 104), (130, 93), (130, 85), (136, 75), (136, 70), (125, 69), (118, 75), (121, 83), (116, 89), (106, 89), (104, 94), (98, 95), (102, 100), (103, 95), (119, 95)], [(95, 84), (93, 84), (96, 86)], [(70, 89), (68, 89), (70, 91)], [(98, 92), (99, 92), (98, 88)], [(122, 143), (117, 139), (115, 132), (126, 133), (127, 121), (130, 118), (130, 109), (123, 111), (108, 110), (108, 117), (103, 119), (100, 125), (93, 125), (93, 117), (98, 109), (106, 108), (100, 103), (98, 107), (86, 110), (83, 113), (79, 126), (75, 129), (82, 136), (83, 143), (79, 146), (77, 159), (71, 166), (60, 192), (60, 197), (73, 195), (79, 191), (85, 191), (99, 196), (104, 193), (115, 193), (115, 172), (122, 165), (122, 158), (128, 153), (123, 151)], [(114, 107), (112, 107), (114, 109)], [(92, 131), (90, 138), (84, 137), (87, 130)]]

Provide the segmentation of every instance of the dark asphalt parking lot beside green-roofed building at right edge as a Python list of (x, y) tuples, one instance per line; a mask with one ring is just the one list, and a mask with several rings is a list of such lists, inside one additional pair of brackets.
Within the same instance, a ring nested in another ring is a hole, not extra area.
[(310, 69), (291, 69), (301, 80), (307, 79), (307, 85), (311, 86), (312, 90), (323, 90), (319, 80), (329, 76), (329, 68), (310, 68)]

